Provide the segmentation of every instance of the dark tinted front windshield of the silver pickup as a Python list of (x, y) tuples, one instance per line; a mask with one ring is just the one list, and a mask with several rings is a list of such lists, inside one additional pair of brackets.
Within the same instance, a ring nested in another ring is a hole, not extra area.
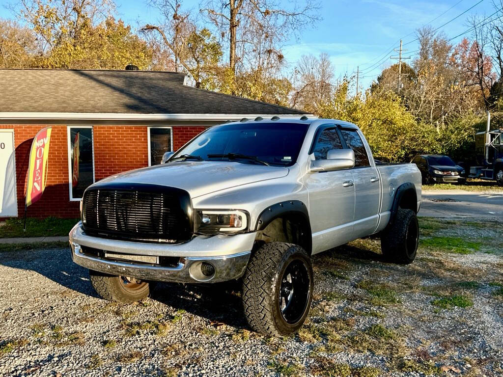
[(196, 137), (171, 159), (190, 155), (211, 161), (290, 166), (297, 161), (307, 128), (302, 123), (222, 124)]

